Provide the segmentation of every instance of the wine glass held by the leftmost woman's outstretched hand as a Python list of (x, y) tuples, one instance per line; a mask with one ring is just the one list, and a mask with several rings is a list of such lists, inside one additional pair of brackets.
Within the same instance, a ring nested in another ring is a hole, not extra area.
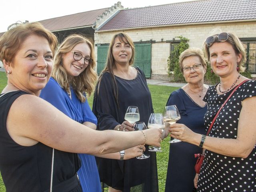
[[(148, 120), (148, 128), (158, 128), (164, 130), (164, 118), (160, 113), (150, 114)], [(161, 147), (157, 146), (148, 146), (149, 151), (162, 152)]]

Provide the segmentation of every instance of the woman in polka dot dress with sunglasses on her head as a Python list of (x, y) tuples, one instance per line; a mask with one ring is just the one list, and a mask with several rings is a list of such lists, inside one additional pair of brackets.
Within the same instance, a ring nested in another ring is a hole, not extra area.
[[(246, 54), (242, 42), (232, 33), (210, 36), (205, 52), (220, 83), (208, 89), (204, 100), (208, 110), (204, 124), (208, 130), (220, 106), (232, 90), (247, 78)], [(242, 84), (218, 114), (208, 136), (192, 132), (183, 124), (170, 126), (171, 136), (205, 149), (200, 174), (194, 183), (198, 192), (256, 191), (256, 81)]]

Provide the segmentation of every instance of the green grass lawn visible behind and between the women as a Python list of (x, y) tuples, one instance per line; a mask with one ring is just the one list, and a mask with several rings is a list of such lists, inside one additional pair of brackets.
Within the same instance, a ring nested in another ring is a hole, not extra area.
[[(7, 84), (6, 74), (4, 72), (0, 72), (0, 92), (6, 86), (6, 84)], [(148, 86), (152, 95), (154, 112), (163, 113), (164, 106), (169, 98), (170, 93), (178, 88), (169, 87), (169, 86), (157, 86), (157, 85), (148, 85)], [(92, 97), (88, 99), (90, 106), (92, 105), (92, 99), (93, 99)], [(164, 187), (165, 187), (166, 171), (167, 171), (168, 156), (169, 156), (169, 146), (170, 146), (168, 141), (169, 141), (169, 137), (167, 137), (161, 143), (161, 148), (163, 149), (163, 152), (156, 153), (159, 192), (164, 192)], [(5, 192), (5, 191), (6, 190), (2, 182), (2, 177), (0, 176), (0, 192)]]

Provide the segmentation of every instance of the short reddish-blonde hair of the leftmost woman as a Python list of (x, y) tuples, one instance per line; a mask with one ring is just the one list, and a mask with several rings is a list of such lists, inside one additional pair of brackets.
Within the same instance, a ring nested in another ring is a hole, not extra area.
[(44, 28), (39, 22), (15, 23), (10, 25), (8, 31), (0, 38), (0, 60), (12, 63), (23, 42), (31, 35), (46, 38), (54, 56), (58, 40), (52, 32)]

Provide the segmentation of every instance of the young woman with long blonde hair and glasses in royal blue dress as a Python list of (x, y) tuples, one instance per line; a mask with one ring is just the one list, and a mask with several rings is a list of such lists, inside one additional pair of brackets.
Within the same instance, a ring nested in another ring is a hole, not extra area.
[[(91, 42), (81, 35), (70, 35), (60, 44), (52, 77), (42, 90), (40, 97), (47, 100), (73, 120), (96, 129), (97, 118), (92, 113), (85, 92), (92, 93), (96, 81), (95, 56)], [(140, 155), (143, 146), (131, 148), (132, 157)], [(130, 155), (130, 154), (129, 154)], [(126, 150), (124, 159), (129, 158)], [(82, 161), (78, 177), (84, 192), (101, 192), (100, 178), (95, 157), (78, 154)], [(99, 155), (119, 159), (119, 153)]]

